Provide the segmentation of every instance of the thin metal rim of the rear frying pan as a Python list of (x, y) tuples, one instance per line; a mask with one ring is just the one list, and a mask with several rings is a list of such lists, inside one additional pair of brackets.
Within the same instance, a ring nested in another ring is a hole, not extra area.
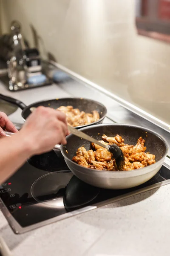
[(105, 118), (105, 116), (107, 115), (107, 108), (105, 107), (105, 105), (103, 105), (102, 103), (100, 103), (100, 102), (98, 102), (98, 101), (96, 101), (96, 100), (94, 100), (94, 99), (88, 99), (88, 98), (83, 98), (83, 97), (66, 97), (66, 98), (56, 98), (56, 99), (45, 99), (45, 100), (41, 100), (41, 101), (38, 101), (38, 102), (34, 102), (34, 103), (30, 104), (30, 105), (27, 105), (26, 108), (23, 109), (22, 114), (21, 114), (23, 120), (26, 121), (26, 119), (25, 119), (24, 116), (23, 116), (23, 113), (24, 113), (28, 108), (33, 107), (35, 104), (39, 104), (39, 103), (46, 102), (46, 101), (59, 100), (59, 99), (63, 99), (63, 100), (67, 100), (67, 99), (85, 99), (85, 100), (88, 100), (88, 101), (92, 101), (92, 102), (96, 103), (97, 105), (100, 105), (100, 106), (104, 109), (105, 114), (104, 114), (104, 116), (102, 116), (99, 120), (97, 120), (96, 122), (93, 122), (93, 123), (91, 123), (91, 124), (89, 124), (89, 125), (79, 125), (79, 126), (74, 127), (74, 128), (76, 128), (76, 129), (86, 128), (86, 127), (88, 127), (88, 126), (95, 125), (95, 124), (97, 124), (98, 122), (101, 122), (101, 121)]

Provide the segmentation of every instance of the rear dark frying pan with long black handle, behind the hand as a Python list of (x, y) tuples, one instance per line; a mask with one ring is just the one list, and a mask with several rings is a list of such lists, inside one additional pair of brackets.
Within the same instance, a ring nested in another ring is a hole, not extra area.
[[(21, 108), (22, 111), (22, 117), (24, 120), (27, 119), (27, 117), (31, 114), (30, 108), (37, 108), (38, 106), (44, 106), (44, 107), (50, 107), (57, 109), (60, 106), (68, 106), (71, 105), (73, 108), (79, 108), (80, 111), (85, 111), (86, 113), (91, 113), (91, 111), (96, 110), (99, 112), (100, 119), (96, 122), (93, 122), (89, 125), (94, 125), (94, 124), (100, 124), (103, 122), (103, 119), (106, 116), (107, 109), (105, 108), (104, 105), (102, 105), (99, 102), (96, 102), (92, 99), (83, 99), (83, 98), (61, 98), (61, 99), (50, 99), (50, 100), (45, 100), (45, 101), (40, 101), (33, 103), (31, 105), (26, 106), (23, 102), (5, 96), (3, 94), (0, 94), (0, 99), (3, 99), (7, 102), (10, 102), (14, 105), (17, 105), (19, 108)], [(77, 126), (76, 128), (82, 128), (86, 127), (89, 125), (81, 125)]]

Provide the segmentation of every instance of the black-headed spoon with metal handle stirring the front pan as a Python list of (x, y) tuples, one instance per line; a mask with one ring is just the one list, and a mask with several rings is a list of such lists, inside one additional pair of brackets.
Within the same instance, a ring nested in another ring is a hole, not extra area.
[(108, 151), (111, 151), (111, 153), (113, 154), (114, 159), (116, 160), (116, 165), (118, 167), (119, 170), (122, 169), (122, 167), (125, 164), (125, 158), (124, 158), (124, 154), (122, 152), (122, 150), (116, 145), (116, 144), (112, 144), (112, 145), (104, 145), (102, 143), (100, 143), (98, 140), (94, 139), (91, 136), (88, 136), (87, 134), (85, 134), (82, 131), (79, 131), (71, 126), (68, 125), (68, 130), (78, 136), (81, 139), (85, 139), (88, 140), (90, 142), (94, 142), (96, 144), (98, 144), (99, 146), (108, 149)]

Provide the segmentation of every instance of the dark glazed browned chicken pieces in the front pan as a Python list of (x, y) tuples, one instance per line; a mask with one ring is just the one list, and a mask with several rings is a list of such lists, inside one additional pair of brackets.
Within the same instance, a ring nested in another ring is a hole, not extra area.
[[(121, 148), (125, 156), (125, 165), (120, 171), (139, 169), (156, 163), (155, 155), (145, 152), (145, 140), (142, 137), (137, 140), (136, 145), (128, 145), (118, 134), (115, 137), (108, 137), (103, 134), (102, 140), (99, 142), (105, 145), (115, 143)], [(76, 156), (72, 160), (90, 169), (118, 171), (113, 154), (95, 143), (91, 143), (91, 149), (88, 151), (84, 147), (78, 148)]]

